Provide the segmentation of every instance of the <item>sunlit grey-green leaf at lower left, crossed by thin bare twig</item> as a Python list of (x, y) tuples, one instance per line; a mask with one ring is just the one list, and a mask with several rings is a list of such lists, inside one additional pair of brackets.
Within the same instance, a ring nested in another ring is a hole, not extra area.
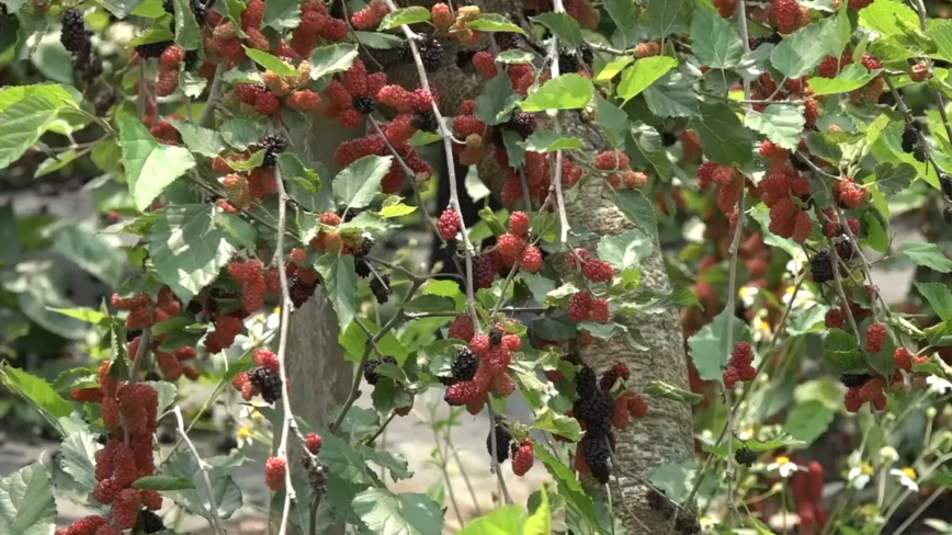
[[(228, 519), (235, 511), (241, 508), (241, 489), (228, 475), (225, 466), (230, 459), (228, 457), (212, 457), (204, 459), (212, 465), (208, 470), (208, 479), (212, 487), (212, 496), (215, 499), (215, 504), (218, 505), (218, 516)], [(186, 511), (197, 514), (208, 521), (212, 520), (211, 503), (208, 491), (203, 481), (202, 469), (195, 457), (189, 452), (179, 452), (169, 459), (166, 464), (165, 475), (172, 478), (185, 478), (193, 483), (191, 489), (170, 490), (168, 496), (172, 498), (177, 504), (182, 505)]]

